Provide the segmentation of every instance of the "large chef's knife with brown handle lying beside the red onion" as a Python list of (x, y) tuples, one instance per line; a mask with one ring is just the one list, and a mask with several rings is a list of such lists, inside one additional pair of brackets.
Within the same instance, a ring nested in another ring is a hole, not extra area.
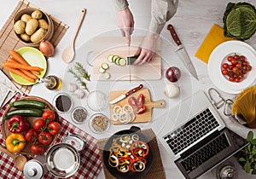
[(184, 66), (186, 66), (186, 68), (193, 75), (193, 77), (198, 79), (196, 71), (195, 71), (195, 66), (193, 65), (192, 61), (190, 60), (188, 52), (183, 47), (183, 44), (177, 37), (177, 33), (175, 32), (173, 26), (171, 24), (169, 24), (167, 26), (167, 30), (169, 30), (171, 32), (172, 38), (173, 38), (174, 42), (177, 44), (177, 54), (181, 57)]

